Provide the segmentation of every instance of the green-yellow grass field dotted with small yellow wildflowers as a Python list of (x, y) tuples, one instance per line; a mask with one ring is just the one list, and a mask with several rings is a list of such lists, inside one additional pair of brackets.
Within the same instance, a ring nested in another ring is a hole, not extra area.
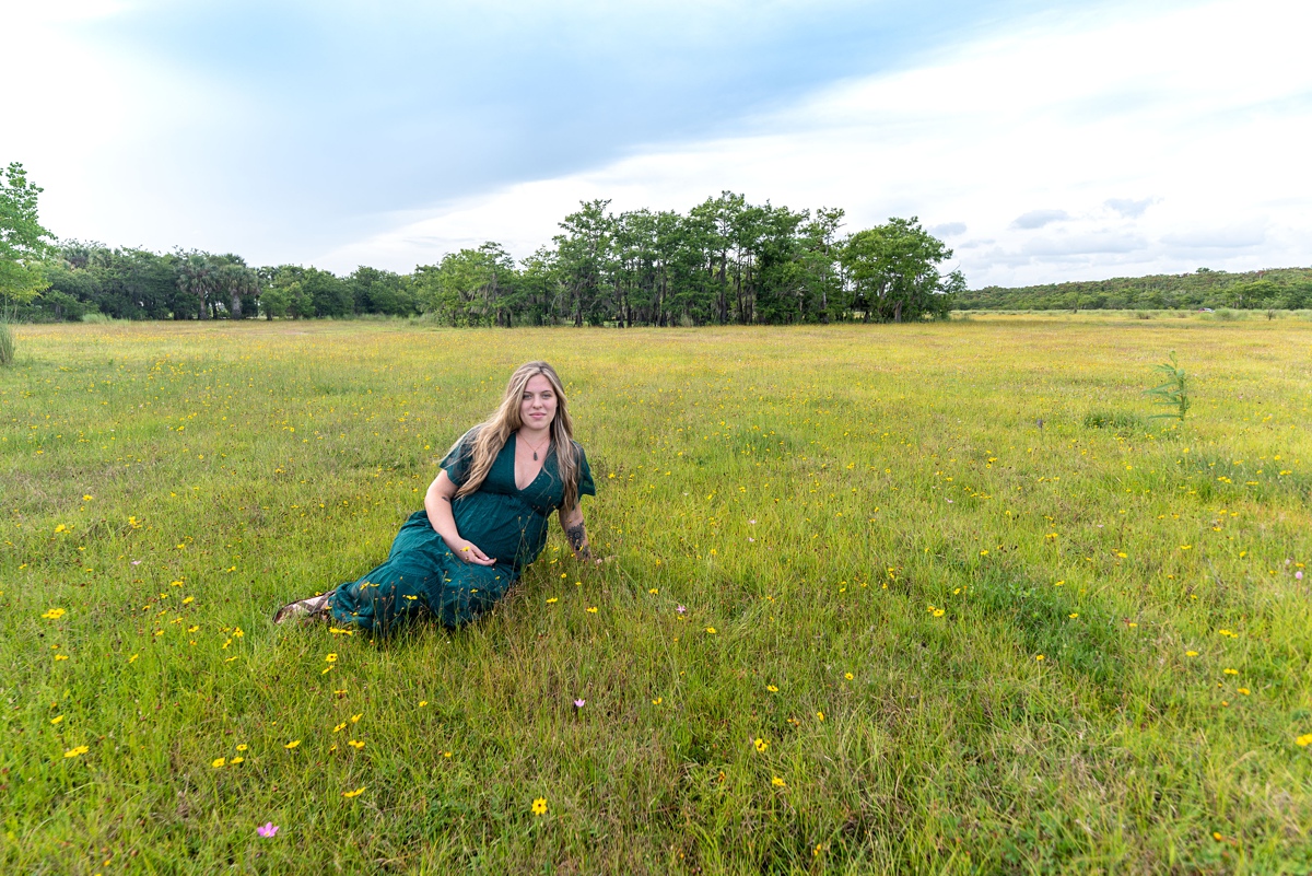
[[(1307, 321), (16, 337), (5, 872), (1312, 869)], [(530, 358), (618, 559), (274, 628)]]

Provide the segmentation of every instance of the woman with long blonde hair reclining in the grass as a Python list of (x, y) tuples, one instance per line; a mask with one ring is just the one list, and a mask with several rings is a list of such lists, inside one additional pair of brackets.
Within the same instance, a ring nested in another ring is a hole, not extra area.
[(510, 375), (496, 413), (446, 454), (424, 510), (401, 526), (387, 561), (283, 606), (273, 620), (333, 620), (387, 635), (432, 614), (458, 627), (491, 608), (538, 557), (552, 510), (575, 556), (592, 560), (579, 500), (596, 494), (560, 378), (546, 362), (529, 362)]

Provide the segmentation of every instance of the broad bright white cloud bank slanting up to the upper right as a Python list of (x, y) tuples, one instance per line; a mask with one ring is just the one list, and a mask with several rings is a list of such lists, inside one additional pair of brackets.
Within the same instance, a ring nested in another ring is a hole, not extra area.
[[(732, 189), (845, 207), (849, 228), (913, 214), (945, 235), (968, 226), (975, 241), (955, 248), (972, 286), (1176, 273), (1203, 254), (1211, 268), (1305, 264), (1309, 24), (1303, 4), (1227, 0), (1035, 26), (834, 85), (737, 136), (396, 216), (321, 261), (404, 269), (487, 239), (525, 256), (580, 199), (686, 210)], [(1060, 235), (1013, 227), (1044, 210), (1067, 216)]]

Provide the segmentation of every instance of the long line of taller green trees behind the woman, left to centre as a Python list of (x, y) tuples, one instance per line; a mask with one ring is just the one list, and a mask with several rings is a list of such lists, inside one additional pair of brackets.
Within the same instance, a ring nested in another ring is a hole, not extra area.
[(516, 261), (496, 243), (408, 274), (256, 268), (237, 254), (63, 241), (47, 286), (14, 317), (306, 319), (380, 313), (446, 325), (724, 325), (946, 319), (966, 289), (953, 250), (916, 218), (840, 233), (844, 211), (748, 203), (686, 214), (580, 205), (551, 245)]

